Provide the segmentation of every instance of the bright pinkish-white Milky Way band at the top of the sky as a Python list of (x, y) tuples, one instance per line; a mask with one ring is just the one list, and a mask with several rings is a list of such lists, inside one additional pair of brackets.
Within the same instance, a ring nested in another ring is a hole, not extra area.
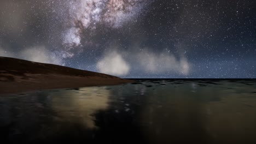
[[(100, 23), (107, 27), (120, 28), (123, 23), (136, 17), (149, 2), (144, 0), (80, 0), (65, 3), (68, 13), (67, 31), (63, 34), (63, 44), (73, 49), (81, 44), (81, 37), (86, 30), (94, 30)], [(85, 38), (86, 39), (86, 38)], [(69, 55), (73, 56), (73, 55)]]

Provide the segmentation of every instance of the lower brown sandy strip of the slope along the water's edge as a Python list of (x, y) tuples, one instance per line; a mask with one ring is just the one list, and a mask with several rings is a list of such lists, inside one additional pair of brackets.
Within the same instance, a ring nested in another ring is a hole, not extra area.
[[(18, 79), (16, 77), (16, 79)], [(39, 91), (44, 89), (113, 86), (134, 82), (127, 79), (99, 79), (97, 77), (79, 77), (66, 75), (41, 75), (22, 81), (0, 81), (0, 94)]]

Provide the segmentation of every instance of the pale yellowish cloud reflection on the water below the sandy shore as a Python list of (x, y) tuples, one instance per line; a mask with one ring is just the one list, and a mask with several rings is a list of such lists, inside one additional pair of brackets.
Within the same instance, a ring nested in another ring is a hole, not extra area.
[(110, 91), (104, 87), (87, 87), (49, 95), (52, 97), (51, 106), (57, 121), (77, 121), (88, 128), (95, 128), (95, 119), (91, 115), (99, 110), (107, 110)]

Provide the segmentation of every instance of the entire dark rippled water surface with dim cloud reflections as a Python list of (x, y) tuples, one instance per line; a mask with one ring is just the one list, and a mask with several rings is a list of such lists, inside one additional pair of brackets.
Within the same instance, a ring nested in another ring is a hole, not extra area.
[(256, 80), (0, 95), (1, 143), (256, 143)]

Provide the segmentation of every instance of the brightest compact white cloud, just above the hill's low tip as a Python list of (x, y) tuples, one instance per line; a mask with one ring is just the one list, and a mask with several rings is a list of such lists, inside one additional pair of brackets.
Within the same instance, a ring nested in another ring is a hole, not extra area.
[(100, 61), (97, 62), (97, 69), (100, 73), (124, 76), (130, 71), (130, 65), (117, 52), (107, 53)]

